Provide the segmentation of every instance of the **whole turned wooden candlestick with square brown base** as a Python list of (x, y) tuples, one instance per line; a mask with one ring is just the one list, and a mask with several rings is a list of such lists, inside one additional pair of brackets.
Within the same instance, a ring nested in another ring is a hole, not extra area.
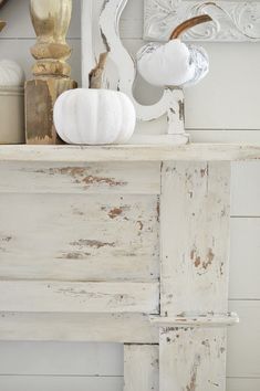
[(31, 49), (34, 78), (25, 83), (27, 144), (60, 144), (53, 106), (60, 94), (76, 87), (66, 63), (72, 0), (31, 0), (30, 13), (38, 40)]

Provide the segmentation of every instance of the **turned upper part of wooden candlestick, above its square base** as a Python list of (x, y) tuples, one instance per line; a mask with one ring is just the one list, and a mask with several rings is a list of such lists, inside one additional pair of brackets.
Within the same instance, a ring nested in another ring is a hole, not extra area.
[(71, 67), (66, 60), (71, 49), (66, 34), (72, 14), (72, 0), (30, 0), (32, 24), (37, 43), (31, 49), (37, 63), (34, 76), (69, 77)]

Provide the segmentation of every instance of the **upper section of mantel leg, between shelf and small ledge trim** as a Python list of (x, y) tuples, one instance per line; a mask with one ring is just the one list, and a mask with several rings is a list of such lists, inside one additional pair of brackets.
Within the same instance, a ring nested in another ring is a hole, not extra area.
[(164, 165), (163, 315), (227, 311), (229, 176), (228, 162)]

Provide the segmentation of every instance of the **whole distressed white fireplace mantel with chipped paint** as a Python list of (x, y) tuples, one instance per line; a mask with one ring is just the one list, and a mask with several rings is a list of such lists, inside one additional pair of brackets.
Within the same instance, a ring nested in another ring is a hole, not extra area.
[(0, 339), (121, 342), (125, 391), (223, 391), (230, 166), (254, 159), (165, 136), (0, 147)]

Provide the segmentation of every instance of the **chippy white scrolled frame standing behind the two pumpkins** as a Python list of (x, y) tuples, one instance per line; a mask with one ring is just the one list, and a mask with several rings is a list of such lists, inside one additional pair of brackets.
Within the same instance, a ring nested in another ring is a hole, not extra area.
[(90, 73), (100, 55), (108, 51), (103, 86), (127, 94), (135, 105), (141, 121), (167, 117), (166, 135), (171, 141), (187, 144), (184, 125), (184, 93), (180, 88), (165, 88), (154, 105), (141, 105), (133, 95), (136, 62), (119, 38), (119, 20), (128, 0), (82, 0), (82, 68), (83, 87), (89, 87)]

